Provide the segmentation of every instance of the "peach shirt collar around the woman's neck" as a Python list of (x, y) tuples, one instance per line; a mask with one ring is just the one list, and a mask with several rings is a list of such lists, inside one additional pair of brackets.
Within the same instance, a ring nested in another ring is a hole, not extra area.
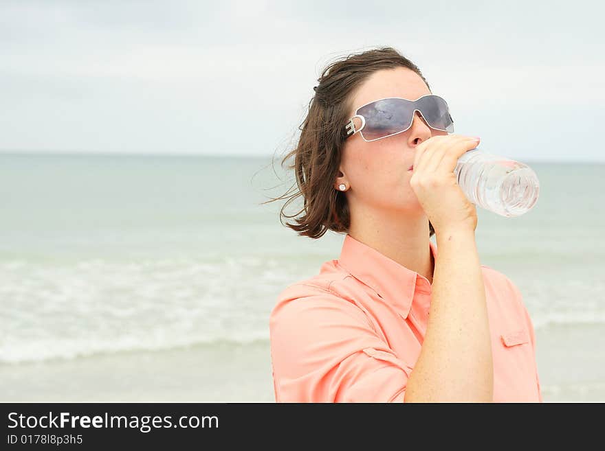
[[(437, 246), (429, 240), (430, 251), (437, 257)], [(405, 266), (386, 257), (347, 233), (338, 259), (340, 265), (356, 279), (377, 292), (388, 303), (395, 305), (407, 318), (416, 290), (417, 279), (428, 280)]]

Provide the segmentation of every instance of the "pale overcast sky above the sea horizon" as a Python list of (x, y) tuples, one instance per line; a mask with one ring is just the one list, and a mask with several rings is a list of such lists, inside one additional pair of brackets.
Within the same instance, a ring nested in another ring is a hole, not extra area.
[(0, 0), (0, 152), (285, 154), (338, 58), (395, 47), (454, 133), (605, 162), (600, 1)]

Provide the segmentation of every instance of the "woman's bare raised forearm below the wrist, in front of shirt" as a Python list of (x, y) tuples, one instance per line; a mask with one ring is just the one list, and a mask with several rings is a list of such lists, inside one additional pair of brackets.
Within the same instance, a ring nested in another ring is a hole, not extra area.
[(432, 298), (406, 402), (492, 402), (485, 287), (474, 231), (437, 233)]

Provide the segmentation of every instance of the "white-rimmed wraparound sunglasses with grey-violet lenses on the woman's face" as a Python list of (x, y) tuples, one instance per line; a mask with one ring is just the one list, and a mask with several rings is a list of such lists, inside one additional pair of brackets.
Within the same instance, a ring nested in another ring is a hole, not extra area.
[[(364, 141), (376, 141), (397, 133), (402, 133), (412, 126), (414, 114), (419, 111), (428, 126), (442, 132), (454, 132), (454, 120), (450, 116), (448, 104), (439, 95), (423, 95), (417, 100), (387, 97), (375, 100), (355, 111), (355, 116), (344, 126), (347, 139), (360, 132)], [(355, 128), (353, 119), (359, 117), (362, 126)]]

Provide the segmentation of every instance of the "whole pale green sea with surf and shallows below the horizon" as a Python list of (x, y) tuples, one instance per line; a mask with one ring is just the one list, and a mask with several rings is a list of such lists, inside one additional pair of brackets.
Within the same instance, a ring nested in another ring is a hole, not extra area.
[[(344, 238), (261, 205), (280, 162), (0, 154), (1, 401), (274, 402), (276, 296)], [(544, 401), (605, 402), (605, 164), (525, 163), (538, 203), (478, 209), (481, 263), (523, 294)]]

